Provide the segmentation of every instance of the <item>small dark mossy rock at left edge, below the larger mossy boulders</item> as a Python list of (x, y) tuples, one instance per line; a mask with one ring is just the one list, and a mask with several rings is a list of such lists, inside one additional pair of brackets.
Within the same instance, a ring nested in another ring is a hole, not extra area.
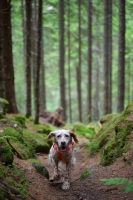
[(5, 165), (11, 165), (13, 163), (13, 152), (9, 145), (2, 138), (0, 139), (0, 162)]

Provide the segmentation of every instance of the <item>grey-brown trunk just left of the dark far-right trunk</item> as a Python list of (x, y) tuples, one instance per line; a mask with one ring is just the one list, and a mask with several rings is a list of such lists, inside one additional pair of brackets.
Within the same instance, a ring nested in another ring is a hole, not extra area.
[(112, 0), (104, 0), (104, 114), (111, 113), (112, 99)]

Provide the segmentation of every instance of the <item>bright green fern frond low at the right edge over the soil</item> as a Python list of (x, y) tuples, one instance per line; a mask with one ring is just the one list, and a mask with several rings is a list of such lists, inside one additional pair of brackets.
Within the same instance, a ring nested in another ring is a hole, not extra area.
[(133, 191), (133, 181), (128, 180), (127, 178), (102, 178), (100, 180), (106, 185), (123, 185), (123, 189), (125, 192)]

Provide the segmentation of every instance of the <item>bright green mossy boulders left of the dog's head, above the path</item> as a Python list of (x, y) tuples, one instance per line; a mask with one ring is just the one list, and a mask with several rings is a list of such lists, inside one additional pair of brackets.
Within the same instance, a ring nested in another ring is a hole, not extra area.
[[(21, 159), (29, 159), (35, 157), (35, 152), (49, 152), (51, 140), (46, 140), (46, 137), (53, 127), (48, 124), (34, 125), (32, 121), (29, 124), (28, 122), (21, 115), (0, 119), (0, 141), (2, 140), (0, 160), (2, 162), (11, 164), (13, 153)], [(7, 156), (3, 149), (8, 152)]]

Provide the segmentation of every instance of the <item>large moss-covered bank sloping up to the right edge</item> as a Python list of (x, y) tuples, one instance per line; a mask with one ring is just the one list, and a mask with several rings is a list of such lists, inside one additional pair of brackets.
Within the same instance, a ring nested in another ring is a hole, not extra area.
[(88, 141), (88, 150), (91, 154), (101, 151), (101, 164), (112, 164), (132, 148), (132, 119), (133, 101), (121, 114), (109, 114), (100, 120), (102, 127), (93, 140)]

